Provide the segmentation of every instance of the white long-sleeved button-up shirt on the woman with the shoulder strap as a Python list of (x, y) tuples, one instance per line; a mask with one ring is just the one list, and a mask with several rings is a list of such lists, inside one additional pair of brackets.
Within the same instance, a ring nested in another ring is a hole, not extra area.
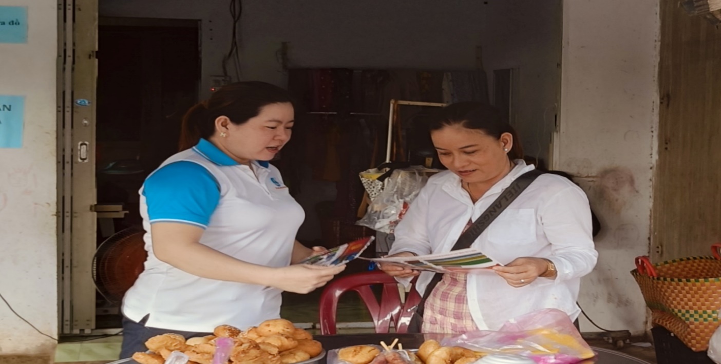
[[(448, 252), (469, 220), (480, 214), (518, 176), (533, 170), (523, 160), (474, 204), (461, 187), (461, 178), (450, 171), (429, 178), (395, 229), (391, 254), (415, 252), (424, 255)], [(598, 252), (591, 237), (588, 199), (567, 178), (544, 174), (528, 186), (472, 247), (501, 264), (516, 258), (538, 257), (553, 261), (555, 280), (538, 278), (521, 288), (509, 286), (496, 273), (469, 274), (466, 293), (471, 315), (478, 329), (497, 330), (508, 319), (538, 309), (555, 308), (576, 319), (580, 278), (596, 265)], [(423, 272), (416, 288), (425, 292), (433, 273)], [(399, 280), (404, 283), (410, 280)]]

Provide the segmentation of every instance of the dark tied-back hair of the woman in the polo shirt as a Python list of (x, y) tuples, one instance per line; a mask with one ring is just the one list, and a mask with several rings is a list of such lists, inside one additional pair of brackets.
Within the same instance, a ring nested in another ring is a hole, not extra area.
[(191, 107), (182, 118), (180, 150), (208, 139), (216, 132), (216, 119), (228, 117), (240, 125), (257, 117), (263, 106), (293, 101), (288, 91), (260, 81), (230, 83), (215, 91), (210, 99)]

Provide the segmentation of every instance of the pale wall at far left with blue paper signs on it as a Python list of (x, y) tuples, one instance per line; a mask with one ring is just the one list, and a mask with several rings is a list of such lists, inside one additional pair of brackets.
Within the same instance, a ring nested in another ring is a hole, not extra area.
[[(24, 95), (22, 148), (0, 149), (0, 294), (18, 314), (57, 337), (56, 1), (27, 6), (27, 44), (0, 44), (0, 94)], [(51, 363), (55, 342), (0, 302), (0, 363)]]

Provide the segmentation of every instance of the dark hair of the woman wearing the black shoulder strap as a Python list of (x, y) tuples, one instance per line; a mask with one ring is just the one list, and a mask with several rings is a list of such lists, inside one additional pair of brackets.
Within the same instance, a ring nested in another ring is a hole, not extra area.
[(496, 139), (500, 139), (503, 133), (510, 133), (513, 136), (513, 146), (508, 152), (508, 158), (523, 158), (523, 147), (516, 130), (503, 120), (498, 109), (493, 106), (472, 101), (456, 102), (441, 109), (428, 123), (431, 132), (452, 125), (481, 130)]

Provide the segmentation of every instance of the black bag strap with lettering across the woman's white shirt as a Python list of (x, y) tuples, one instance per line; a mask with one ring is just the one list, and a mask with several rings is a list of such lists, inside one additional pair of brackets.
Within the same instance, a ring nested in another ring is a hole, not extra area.
[[(473, 222), (471, 227), (461, 234), (451, 250), (461, 250), (471, 247), (473, 242), (475, 242), (481, 233), (490, 226), (493, 220), (495, 220), (496, 217), (498, 217), (498, 215), (500, 215), (500, 213), (508, 207), (508, 205), (516, 200), (516, 197), (521, 195), (528, 186), (531, 186), (531, 183), (536, 181), (536, 178), (541, 176), (541, 174), (543, 174), (543, 172), (540, 170), (529, 170), (510, 183), (510, 186), (505, 188), (503, 193), (501, 193), (500, 196), (498, 196), (495, 201), (488, 206), (486, 211), (483, 211), (483, 214), (481, 214), (481, 216)], [(415, 314), (408, 325), (408, 332), (420, 332), (420, 326), (423, 324), (423, 309), (425, 306), (425, 300), (428, 299), (428, 296), (430, 296), (430, 293), (433, 292), (433, 288), (438, 285), (438, 282), (441, 281), (441, 278), (443, 278), (443, 273), (435, 273), (433, 278), (431, 278), (430, 283), (428, 283), (428, 286), (425, 288), (423, 298), (420, 299), (420, 302), (415, 310)]]

